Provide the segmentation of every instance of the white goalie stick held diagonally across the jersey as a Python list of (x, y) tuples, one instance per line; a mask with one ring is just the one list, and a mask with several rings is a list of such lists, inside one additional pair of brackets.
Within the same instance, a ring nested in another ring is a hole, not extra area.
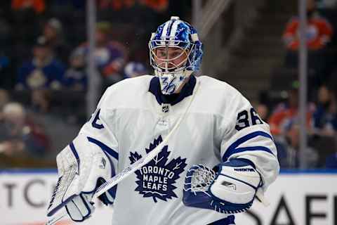
[[(124, 168), (119, 174), (116, 174), (113, 176), (111, 179), (107, 180), (104, 184), (99, 186), (95, 193), (93, 194), (93, 198), (97, 198), (98, 196), (102, 195), (106, 191), (108, 191), (110, 188), (113, 186), (117, 185), (120, 181), (126, 179), (129, 175), (133, 174), (136, 170), (140, 169), (144, 165), (146, 165), (148, 162), (150, 162), (158, 153), (161, 151), (161, 149), (166, 145), (166, 143), (169, 141), (170, 137), (172, 134), (176, 132), (178, 127), (180, 127), (180, 123), (183, 121), (185, 115), (187, 114), (188, 110), (190, 109), (190, 106), (194, 100), (194, 97), (197, 94), (197, 90), (199, 89), (199, 82), (197, 82), (197, 85), (195, 87), (194, 93), (192, 94), (192, 98), (190, 99), (190, 102), (187, 105), (187, 108), (183, 115), (179, 118), (179, 120), (176, 122), (172, 130), (167, 134), (166, 138), (159, 143), (159, 145), (154, 148), (150, 153), (146, 155), (145, 158), (141, 158), (140, 160), (137, 160), (135, 163), (132, 165), (129, 165), (128, 167)], [(56, 224), (60, 219), (66, 217), (67, 214), (60, 214), (56, 217), (51, 218), (46, 222), (46, 225), (53, 225)]]

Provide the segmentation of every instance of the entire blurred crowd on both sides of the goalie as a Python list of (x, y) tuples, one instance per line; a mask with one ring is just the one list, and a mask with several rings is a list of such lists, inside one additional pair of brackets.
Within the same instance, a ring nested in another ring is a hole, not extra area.
[[(86, 122), (86, 1), (0, 3), (0, 168), (51, 167)], [(190, 20), (190, 1), (97, 0), (95, 68), (102, 90), (149, 73), (147, 41), (170, 15)], [(337, 168), (337, 4), (308, 0), (309, 168)], [(270, 123), (282, 168), (298, 168), (299, 19), (289, 18), (286, 56), (256, 110)], [(247, 96), (249, 97), (249, 96)], [(41, 160), (44, 159), (44, 160)]]

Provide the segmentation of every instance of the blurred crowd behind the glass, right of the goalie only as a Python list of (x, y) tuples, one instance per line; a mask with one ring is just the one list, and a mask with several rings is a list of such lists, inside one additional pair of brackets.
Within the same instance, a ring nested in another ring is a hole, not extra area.
[[(272, 90), (262, 93), (258, 113), (269, 122), (282, 168), (337, 168), (337, 1), (307, 1), (308, 148), (299, 152), (299, 18), (284, 27), (284, 66), (272, 75)], [(275, 94), (276, 93), (276, 94)], [(276, 96), (276, 97), (275, 97)]]

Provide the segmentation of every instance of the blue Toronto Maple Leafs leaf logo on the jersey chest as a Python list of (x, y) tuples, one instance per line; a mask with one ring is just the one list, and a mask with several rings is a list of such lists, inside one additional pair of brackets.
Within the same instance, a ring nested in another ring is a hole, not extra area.
[[(145, 148), (146, 153), (150, 153), (161, 141), (163, 141), (161, 136), (158, 139), (154, 139), (154, 142), (150, 143), (149, 148)], [(182, 159), (179, 157), (167, 162), (170, 155), (168, 148), (169, 146), (164, 146), (156, 157), (135, 172), (138, 178), (136, 181), (138, 186), (135, 191), (139, 191), (145, 198), (152, 197), (154, 203), (157, 203), (157, 198), (164, 201), (178, 198), (173, 191), (177, 187), (173, 184), (176, 183), (176, 180), (186, 167), (186, 158)], [(131, 164), (140, 160), (140, 158), (142, 158), (142, 155), (139, 155), (137, 152), (130, 153), (129, 159)]]

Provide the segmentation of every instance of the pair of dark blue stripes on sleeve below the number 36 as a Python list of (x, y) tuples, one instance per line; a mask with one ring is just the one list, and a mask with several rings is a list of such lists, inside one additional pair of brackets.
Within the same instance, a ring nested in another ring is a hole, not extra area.
[(228, 160), (228, 158), (230, 158), (230, 155), (233, 155), (235, 153), (242, 153), (246, 150), (263, 150), (267, 153), (270, 153), (270, 154), (274, 155), (269, 148), (266, 148), (266, 147), (263, 147), (263, 146), (251, 146), (251, 147), (237, 148), (237, 146), (239, 146), (240, 144), (242, 144), (246, 141), (249, 141), (250, 139), (253, 139), (256, 136), (265, 136), (266, 138), (274, 141), (272, 139), (272, 136), (270, 136), (270, 134), (267, 134), (266, 132), (263, 132), (263, 131), (255, 131), (251, 134), (247, 134), (247, 135), (237, 139), (237, 141), (232, 143), (230, 145), (230, 147), (227, 148), (225, 154), (223, 155), (223, 162), (226, 162)]

